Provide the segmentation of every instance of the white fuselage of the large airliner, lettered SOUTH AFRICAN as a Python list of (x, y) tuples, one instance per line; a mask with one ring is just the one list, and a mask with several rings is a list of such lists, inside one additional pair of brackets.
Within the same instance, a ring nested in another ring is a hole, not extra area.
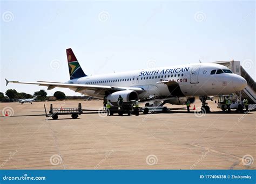
[[(247, 82), (244, 78), (233, 73), (211, 74), (212, 70), (229, 70), (223, 65), (215, 63), (196, 63), (163, 68), (151, 68), (131, 72), (102, 74), (81, 77), (67, 83), (95, 84), (112, 87), (139, 87), (145, 91), (139, 98), (150, 95), (171, 97), (170, 87), (160, 81), (176, 81), (180, 87), (178, 96), (215, 96), (226, 95), (244, 89)], [(79, 91), (87, 96), (104, 98), (95, 90)], [(176, 94), (177, 95), (177, 94)]]

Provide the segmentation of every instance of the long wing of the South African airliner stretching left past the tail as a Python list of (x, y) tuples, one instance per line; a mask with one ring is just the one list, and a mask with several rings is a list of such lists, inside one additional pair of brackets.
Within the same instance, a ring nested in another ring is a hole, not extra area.
[(19, 84), (35, 84), (39, 86), (46, 86), (48, 87), (48, 90), (53, 88), (69, 88), (72, 90), (75, 90), (76, 92), (82, 91), (82, 90), (96, 90), (96, 91), (122, 91), (122, 90), (133, 90), (137, 93), (143, 93), (145, 90), (143, 88), (137, 88), (137, 87), (115, 87), (115, 86), (102, 86), (102, 85), (88, 85), (88, 84), (73, 84), (73, 83), (61, 83), (61, 82), (46, 82), (46, 81), (38, 81), (38, 82), (20, 82), (20, 81), (6, 81), (6, 86), (8, 83), (19, 83)]

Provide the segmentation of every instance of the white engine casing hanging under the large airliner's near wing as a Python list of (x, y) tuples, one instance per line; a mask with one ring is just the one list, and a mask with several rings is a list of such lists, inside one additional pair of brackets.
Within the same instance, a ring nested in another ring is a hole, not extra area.
[(106, 99), (107, 101), (111, 102), (117, 102), (119, 95), (122, 96), (123, 102), (130, 102), (131, 100), (139, 99), (138, 93), (133, 90), (123, 90), (123, 91), (117, 91), (110, 95), (107, 95)]

